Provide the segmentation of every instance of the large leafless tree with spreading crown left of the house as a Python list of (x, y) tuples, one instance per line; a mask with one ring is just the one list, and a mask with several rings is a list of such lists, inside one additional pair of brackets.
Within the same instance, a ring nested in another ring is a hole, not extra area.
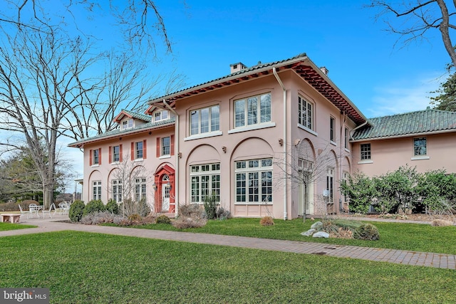
[[(144, 103), (156, 80), (145, 78), (144, 63), (151, 59), (150, 50), (152, 59), (156, 51), (150, 28), (157, 29), (167, 51), (171, 44), (150, 0), (129, 0), (123, 6), (109, 1), (108, 7), (68, 0), (62, 14), (51, 14), (58, 11), (52, 1), (6, 2), (0, 9), (0, 130), (24, 136), (48, 207), (56, 183), (58, 138), (80, 140), (111, 130), (120, 106), (135, 109)], [(88, 21), (108, 11), (125, 48), (105, 51), (100, 39), (86, 33), (76, 16), (81, 6)]]

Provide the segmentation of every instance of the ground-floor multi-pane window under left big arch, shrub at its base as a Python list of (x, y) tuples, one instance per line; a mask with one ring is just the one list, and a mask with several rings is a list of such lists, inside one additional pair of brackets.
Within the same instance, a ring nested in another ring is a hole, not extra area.
[(206, 197), (220, 201), (220, 163), (190, 166), (190, 199), (202, 204)]

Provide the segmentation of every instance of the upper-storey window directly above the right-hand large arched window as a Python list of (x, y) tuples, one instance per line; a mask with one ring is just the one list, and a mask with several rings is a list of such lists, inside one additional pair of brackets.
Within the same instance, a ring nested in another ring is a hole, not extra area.
[(271, 122), (271, 93), (234, 101), (234, 127)]

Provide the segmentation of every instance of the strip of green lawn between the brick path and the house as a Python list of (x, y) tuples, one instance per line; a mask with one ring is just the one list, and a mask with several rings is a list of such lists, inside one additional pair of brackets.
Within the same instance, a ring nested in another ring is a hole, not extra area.
[(261, 226), (259, 219), (229, 219), (227, 221), (208, 221), (198, 229), (175, 229), (167, 224), (136, 226), (140, 229), (187, 231), (207, 234), (226, 234), (232, 236), (252, 236), (264, 239), (282, 239), (291, 241), (312, 241), (378, 248), (393, 248), (408, 251), (425, 251), (456, 254), (456, 226), (434, 227), (425, 224), (407, 224), (391, 222), (369, 222), (378, 227), (379, 241), (360, 241), (354, 239), (317, 239), (301, 236), (301, 232), (310, 229), (314, 221), (302, 219), (284, 221), (276, 219), (274, 226)]

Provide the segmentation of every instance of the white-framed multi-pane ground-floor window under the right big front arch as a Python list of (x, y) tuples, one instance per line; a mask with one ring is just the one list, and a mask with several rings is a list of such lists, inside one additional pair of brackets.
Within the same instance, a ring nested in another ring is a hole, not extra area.
[(272, 202), (272, 159), (234, 162), (236, 203)]

